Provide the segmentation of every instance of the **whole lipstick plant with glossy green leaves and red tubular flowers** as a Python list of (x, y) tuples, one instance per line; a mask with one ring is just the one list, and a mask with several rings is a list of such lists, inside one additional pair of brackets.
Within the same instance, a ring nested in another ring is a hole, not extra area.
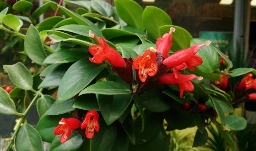
[[(0, 29), (24, 39), (21, 53), (37, 67), (31, 75), (20, 62), (4, 65), (13, 85), (0, 88), (0, 113), (21, 117), (6, 151), (42, 151), (42, 141), (50, 151), (168, 151), (166, 131), (197, 127), (197, 147), (210, 123), (236, 150), (230, 131), (247, 122), (232, 115), (232, 105), (256, 99), (245, 92), (256, 88), (254, 69), (231, 70), (210, 41), (193, 39), (153, 6), (64, 0), (80, 6), (73, 12), (62, 1), (44, 2), (32, 11), (31, 0), (15, 1), (12, 9), (26, 16), (20, 19), (0, 12)], [(55, 15), (36, 24), (48, 8)], [(232, 92), (228, 78), (248, 73)], [(35, 128), (26, 122), (32, 105), (40, 116)]]

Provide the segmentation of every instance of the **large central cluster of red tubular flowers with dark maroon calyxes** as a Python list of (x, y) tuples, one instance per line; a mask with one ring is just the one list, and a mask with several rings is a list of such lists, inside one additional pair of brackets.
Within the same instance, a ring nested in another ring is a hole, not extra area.
[[(89, 52), (93, 55), (93, 58), (89, 58), (89, 60), (93, 63), (102, 63), (104, 60), (107, 60), (112, 65), (112, 71), (116, 72), (124, 82), (130, 84), (132, 94), (142, 92), (152, 84), (155, 87), (157, 84), (178, 84), (180, 87), (180, 98), (182, 98), (184, 90), (194, 90), (194, 86), (190, 81), (194, 78), (201, 80), (202, 77), (182, 75), (178, 71), (184, 70), (187, 67), (190, 71), (193, 71), (193, 67), (201, 65), (203, 62), (202, 58), (196, 55), (196, 53), (200, 47), (208, 46), (210, 41), (206, 41), (201, 45), (195, 44), (188, 49), (168, 55), (172, 46), (172, 32), (174, 31), (175, 29), (171, 27), (169, 33), (157, 39), (156, 49), (150, 47), (142, 56), (136, 57), (134, 61), (131, 58), (122, 58), (103, 38), (98, 38), (92, 31), (89, 31), (90, 37), (94, 37), (100, 44), (89, 47)], [(136, 82), (138, 83), (136, 90), (132, 89), (132, 82), (134, 81), (132, 67), (136, 71)], [(171, 69), (172, 73), (168, 73)]]

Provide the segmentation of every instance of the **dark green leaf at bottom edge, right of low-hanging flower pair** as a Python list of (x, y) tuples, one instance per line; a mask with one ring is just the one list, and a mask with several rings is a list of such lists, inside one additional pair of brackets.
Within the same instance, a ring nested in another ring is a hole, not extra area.
[(113, 123), (107, 126), (105, 121), (99, 120), (100, 130), (94, 132), (94, 137), (91, 139), (91, 151), (109, 151), (116, 140), (116, 124)]

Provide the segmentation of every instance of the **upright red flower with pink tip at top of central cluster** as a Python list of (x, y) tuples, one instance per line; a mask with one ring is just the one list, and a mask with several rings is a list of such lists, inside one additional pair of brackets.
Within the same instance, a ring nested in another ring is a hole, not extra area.
[(169, 33), (165, 33), (162, 38), (156, 40), (156, 50), (162, 53), (163, 57), (168, 54), (172, 47), (172, 32), (174, 31), (175, 28), (171, 27)]

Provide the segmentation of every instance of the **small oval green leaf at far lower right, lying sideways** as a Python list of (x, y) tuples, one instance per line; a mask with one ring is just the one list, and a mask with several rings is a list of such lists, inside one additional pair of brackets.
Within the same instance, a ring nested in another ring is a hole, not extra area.
[(247, 125), (247, 121), (241, 116), (234, 116), (234, 115), (226, 116), (225, 121), (226, 121), (226, 126), (234, 131), (241, 131), (245, 129)]

